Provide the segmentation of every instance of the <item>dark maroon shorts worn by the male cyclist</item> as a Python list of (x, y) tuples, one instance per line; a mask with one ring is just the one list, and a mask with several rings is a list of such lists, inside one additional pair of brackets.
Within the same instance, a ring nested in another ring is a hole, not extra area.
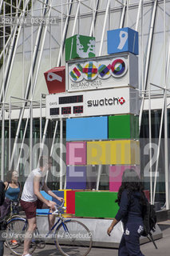
[(20, 200), (20, 203), (22, 206), (22, 210), (24, 210), (26, 213), (26, 218), (36, 217), (36, 209), (48, 209), (49, 208), (47, 205), (45, 205), (45, 203), (43, 203), (40, 200), (37, 200), (35, 202), (26, 202), (26, 201)]

